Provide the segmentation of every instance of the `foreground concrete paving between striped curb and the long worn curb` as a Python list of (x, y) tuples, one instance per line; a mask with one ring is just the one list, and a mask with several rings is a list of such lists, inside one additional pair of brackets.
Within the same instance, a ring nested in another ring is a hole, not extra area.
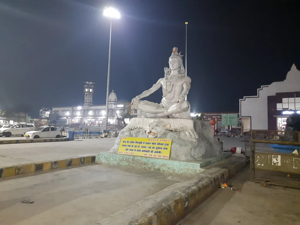
[[(1, 225), (91, 225), (177, 181), (161, 172), (102, 165), (0, 182)], [(21, 203), (24, 199), (32, 204)]]

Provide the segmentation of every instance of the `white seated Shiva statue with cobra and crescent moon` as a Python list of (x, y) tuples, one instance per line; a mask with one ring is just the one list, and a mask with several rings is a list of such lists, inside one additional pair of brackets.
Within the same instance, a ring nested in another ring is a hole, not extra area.
[[(181, 53), (181, 52), (180, 52)], [(185, 100), (190, 90), (191, 79), (185, 76), (182, 56), (174, 47), (169, 58), (169, 68), (165, 67), (165, 76), (159, 79), (149, 90), (144, 91), (131, 101), (131, 110), (138, 110), (142, 118), (181, 118), (191, 119), (190, 103)], [(163, 89), (161, 103), (141, 101), (159, 88)]]

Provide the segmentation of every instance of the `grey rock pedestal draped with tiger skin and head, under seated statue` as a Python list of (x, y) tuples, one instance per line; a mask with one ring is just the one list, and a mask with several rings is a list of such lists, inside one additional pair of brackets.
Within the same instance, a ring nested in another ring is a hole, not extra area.
[(223, 154), (208, 122), (192, 119), (133, 118), (120, 132), (111, 153), (118, 153), (122, 137), (172, 139), (170, 159), (200, 161)]

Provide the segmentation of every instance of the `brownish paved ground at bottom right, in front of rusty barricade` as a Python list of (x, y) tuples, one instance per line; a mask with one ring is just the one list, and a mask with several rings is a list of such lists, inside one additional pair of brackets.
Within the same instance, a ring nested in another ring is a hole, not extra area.
[(300, 224), (299, 190), (261, 187), (249, 178), (247, 168), (227, 182), (236, 191), (219, 189), (177, 225)]

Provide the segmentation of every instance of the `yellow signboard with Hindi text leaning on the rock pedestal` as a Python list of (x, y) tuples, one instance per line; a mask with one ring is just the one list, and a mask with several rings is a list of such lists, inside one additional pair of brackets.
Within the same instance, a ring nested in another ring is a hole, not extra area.
[(118, 154), (169, 159), (172, 139), (122, 137)]

